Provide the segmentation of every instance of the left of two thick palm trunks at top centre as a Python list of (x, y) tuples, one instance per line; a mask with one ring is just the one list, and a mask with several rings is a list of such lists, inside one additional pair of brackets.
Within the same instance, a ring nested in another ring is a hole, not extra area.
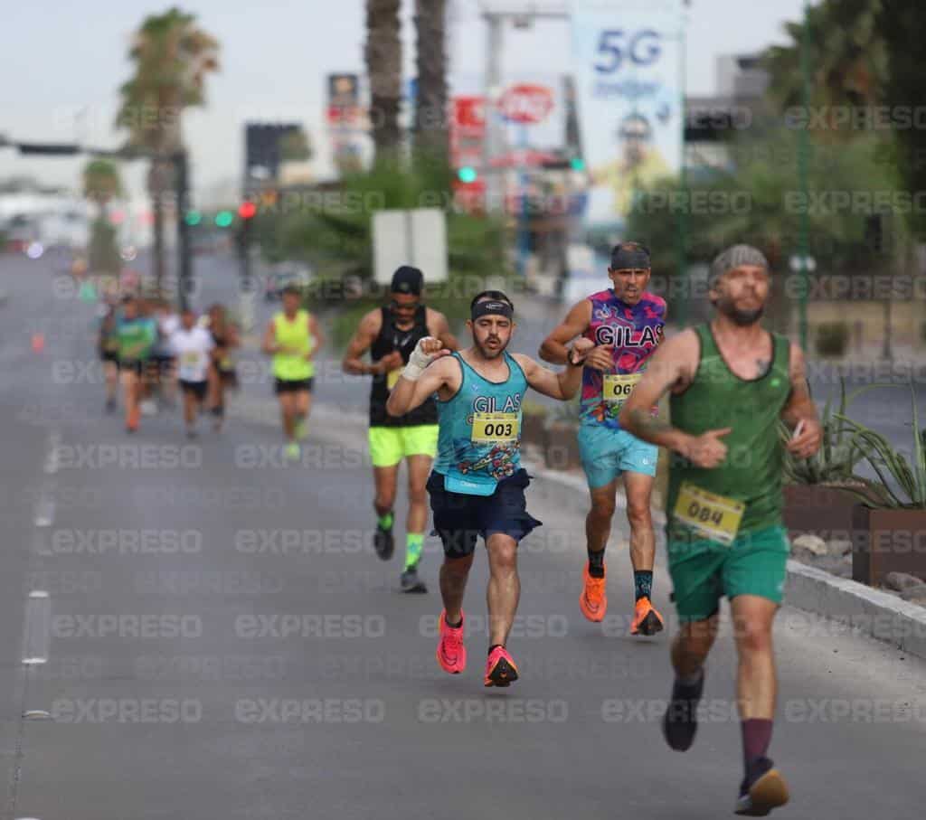
[(394, 159), (399, 147), (399, 99), (402, 96), (401, 0), (367, 0), (367, 63), (370, 131), (376, 161)]

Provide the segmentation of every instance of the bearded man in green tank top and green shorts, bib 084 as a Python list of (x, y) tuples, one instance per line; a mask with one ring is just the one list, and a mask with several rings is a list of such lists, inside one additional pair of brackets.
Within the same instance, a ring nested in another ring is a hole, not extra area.
[[(709, 292), (716, 317), (663, 342), (620, 413), (621, 427), (673, 451), (666, 534), (682, 627), (672, 644), (676, 677), (663, 731), (678, 752), (694, 741), (704, 662), (726, 596), (745, 764), (735, 813), (748, 816), (788, 800), (767, 756), (777, 686), (771, 627), (790, 551), (778, 421), (794, 430), (787, 449), (799, 458), (817, 452), (821, 435), (804, 354), (759, 324), (769, 288), (769, 265), (755, 248), (720, 254)], [(667, 391), (671, 424), (650, 415)]]

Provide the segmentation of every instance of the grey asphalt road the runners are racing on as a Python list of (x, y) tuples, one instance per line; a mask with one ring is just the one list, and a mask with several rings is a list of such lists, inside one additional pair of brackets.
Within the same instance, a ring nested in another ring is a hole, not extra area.
[[(225, 265), (199, 267), (204, 298), (228, 287)], [(668, 640), (627, 634), (623, 528), (610, 614), (589, 624), (576, 600), (584, 504), (536, 480), (529, 507), (544, 527), (521, 548), (509, 643), (522, 679), (482, 689), (482, 554), (469, 668), (445, 676), (436, 540), (422, 563), (432, 593), (413, 597), (397, 591), (399, 559), (383, 565), (367, 543), (365, 430), (338, 408), (341, 396), (362, 407), (362, 385), (322, 384), (336, 398), (323, 396), (298, 466), (279, 460), (266, 373), (245, 382), (221, 436), (191, 444), (165, 412), (129, 438), (102, 413), (94, 306), (63, 295), (41, 260), (0, 257), (0, 282), (4, 817), (730, 815), (741, 773), (729, 630), (694, 749), (670, 752), (658, 730)], [(50, 612), (28, 597), (37, 590)], [(665, 615), (668, 592), (660, 568)], [(772, 754), (794, 793), (778, 816), (920, 817), (926, 663), (788, 608), (776, 641)], [(50, 717), (22, 721), (27, 710)]]

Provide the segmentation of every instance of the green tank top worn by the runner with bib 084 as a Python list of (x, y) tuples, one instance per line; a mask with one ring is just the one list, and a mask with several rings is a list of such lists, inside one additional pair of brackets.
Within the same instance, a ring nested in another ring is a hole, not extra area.
[[(732, 431), (721, 440), (727, 445), (727, 458), (714, 469), (695, 467), (672, 453), (666, 505), (671, 540), (705, 537), (676, 515), (682, 483), (737, 502), (727, 506), (742, 513), (739, 534), (779, 524), (782, 517), (778, 420), (791, 393), (790, 342), (772, 333), (771, 367), (758, 379), (740, 379), (723, 360), (710, 326), (702, 325), (696, 332), (701, 345), (697, 371), (687, 390), (669, 398), (672, 426), (693, 435), (727, 427)], [(682, 499), (686, 508), (691, 498), (686, 494)]]

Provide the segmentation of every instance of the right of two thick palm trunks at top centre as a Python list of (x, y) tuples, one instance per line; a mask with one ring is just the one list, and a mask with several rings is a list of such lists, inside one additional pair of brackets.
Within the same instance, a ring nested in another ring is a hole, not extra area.
[(434, 159), (447, 154), (446, 0), (415, 0), (418, 99), (415, 147)]

